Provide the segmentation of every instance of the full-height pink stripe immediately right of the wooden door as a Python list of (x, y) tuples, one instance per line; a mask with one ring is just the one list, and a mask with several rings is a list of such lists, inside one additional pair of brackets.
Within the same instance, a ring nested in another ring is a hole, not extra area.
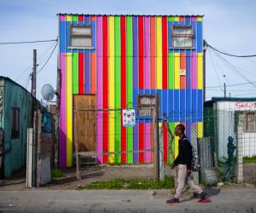
[[(97, 80), (96, 80), (96, 108), (102, 109), (102, 85), (103, 85), (103, 78), (102, 78), (102, 16), (97, 16), (96, 20), (96, 55), (97, 55)], [(97, 112), (96, 113), (96, 151), (97, 153), (102, 153), (102, 144), (103, 144), (103, 113)], [(99, 163), (102, 163), (102, 155), (98, 156)]]

